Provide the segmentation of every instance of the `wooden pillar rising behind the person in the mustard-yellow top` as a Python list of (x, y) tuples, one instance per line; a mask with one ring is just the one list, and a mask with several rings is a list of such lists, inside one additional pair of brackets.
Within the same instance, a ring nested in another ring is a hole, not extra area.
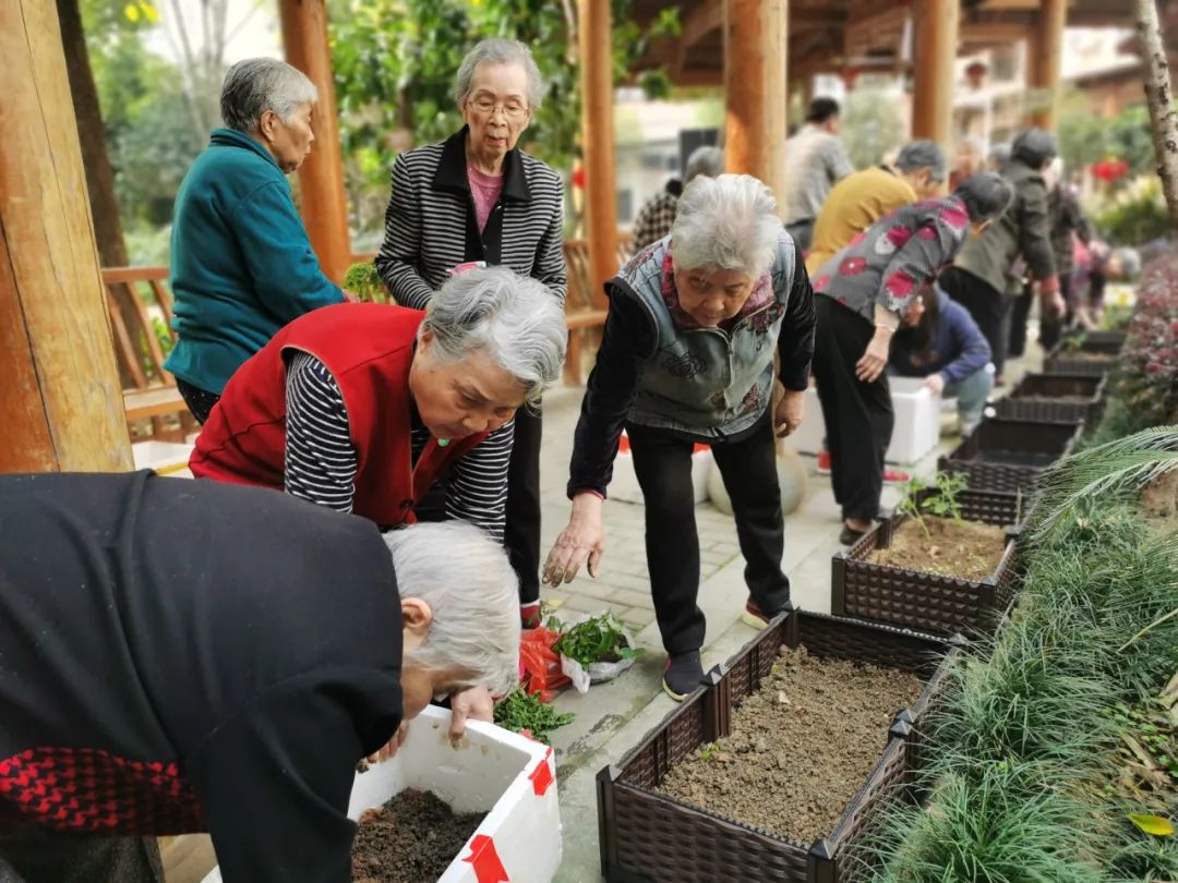
[(935, 141), (949, 155), (953, 141), (958, 0), (921, 0), (914, 24), (916, 64), (912, 137)]

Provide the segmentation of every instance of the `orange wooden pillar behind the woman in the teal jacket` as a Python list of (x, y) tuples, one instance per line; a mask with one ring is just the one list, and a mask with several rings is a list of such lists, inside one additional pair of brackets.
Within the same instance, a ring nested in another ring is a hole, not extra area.
[(315, 146), (298, 170), (303, 221), (323, 272), (340, 283), (352, 263), (352, 248), (348, 235), (348, 195), (324, 2), (279, 0), (278, 11), (286, 61), (311, 78), (319, 89), (312, 121)]

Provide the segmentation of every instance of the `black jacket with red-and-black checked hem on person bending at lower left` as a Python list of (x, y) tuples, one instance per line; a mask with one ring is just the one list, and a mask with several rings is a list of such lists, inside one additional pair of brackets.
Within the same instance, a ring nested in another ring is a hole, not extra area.
[(0, 478), (0, 830), (207, 830), (226, 883), (344, 883), (355, 765), (401, 703), (370, 522), (150, 472)]

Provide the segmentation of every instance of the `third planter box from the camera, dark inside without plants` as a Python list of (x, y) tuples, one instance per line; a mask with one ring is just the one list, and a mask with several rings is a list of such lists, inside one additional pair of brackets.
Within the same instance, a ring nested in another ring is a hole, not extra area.
[(938, 458), (937, 469), (965, 473), (971, 490), (1026, 493), (1040, 472), (1072, 452), (1083, 431), (1083, 423), (986, 418)]

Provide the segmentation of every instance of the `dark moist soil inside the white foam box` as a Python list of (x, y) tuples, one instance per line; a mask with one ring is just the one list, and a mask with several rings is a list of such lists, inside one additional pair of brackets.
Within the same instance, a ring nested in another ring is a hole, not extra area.
[(409, 788), (360, 816), (352, 843), (356, 883), (423, 883), (442, 876), (485, 814), (456, 816), (429, 791)]

